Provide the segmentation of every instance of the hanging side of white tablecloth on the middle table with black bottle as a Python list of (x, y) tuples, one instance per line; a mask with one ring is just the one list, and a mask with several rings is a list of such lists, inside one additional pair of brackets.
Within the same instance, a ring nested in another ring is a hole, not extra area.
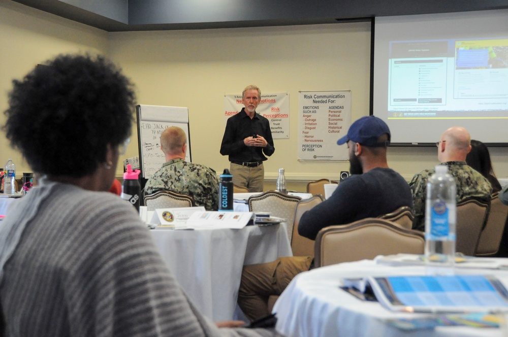
[(151, 232), (178, 283), (214, 321), (234, 318), (244, 264), (292, 256), (285, 226)]

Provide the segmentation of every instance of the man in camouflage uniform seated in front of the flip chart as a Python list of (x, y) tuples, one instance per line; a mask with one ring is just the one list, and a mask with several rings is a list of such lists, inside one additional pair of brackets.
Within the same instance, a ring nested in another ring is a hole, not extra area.
[(185, 132), (171, 126), (161, 134), (161, 150), (166, 162), (146, 182), (144, 195), (160, 190), (171, 190), (194, 197), (196, 206), (207, 211), (218, 209), (218, 179), (214, 170), (185, 161), (187, 137)]

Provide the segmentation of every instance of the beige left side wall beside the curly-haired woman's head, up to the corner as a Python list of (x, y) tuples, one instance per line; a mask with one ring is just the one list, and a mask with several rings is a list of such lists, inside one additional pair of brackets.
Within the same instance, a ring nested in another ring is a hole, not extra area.
[[(3, 112), (13, 79), (22, 78), (38, 63), (60, 53), (107, 53), (107, 47), (108, 33), (103, 30), (0, 0), (0, 125), (5, 123)], [(0, 166), (9, 158), (16, 164), (17, 178), (31, 172), (0, 131)]]

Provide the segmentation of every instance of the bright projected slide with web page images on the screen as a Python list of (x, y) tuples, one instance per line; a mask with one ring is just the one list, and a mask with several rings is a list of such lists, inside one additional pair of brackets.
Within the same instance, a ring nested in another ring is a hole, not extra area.
[(508, 39), (392, 41), (389, 55), (391, 118), (508, 111)]

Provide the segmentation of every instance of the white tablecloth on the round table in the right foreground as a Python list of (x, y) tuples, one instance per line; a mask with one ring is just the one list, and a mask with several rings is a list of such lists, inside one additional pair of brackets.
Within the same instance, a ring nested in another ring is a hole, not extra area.
[[(508, 261), (508, 260), (507, 260)], [(457, 273), (495, 274), (504, 282), (508, 271), (494, 269), (465, 269)], [(301, 273), (291, 281), (278, 298), (273, 312), (277, 314), (276, 329), (292, 337), (329, 336), (507, 336), (502, 328), (472, 328), (441, 326), (433, 330), (405, 332), (383, 322), (394, 317), (413, 318), (415, 315), (393, 313), (378, 302), (362, 301), (340, 289), (343, 278), (365, 276), (424, 275), (423, 266), (388, 266), (372, 260), (340, 263)]]

